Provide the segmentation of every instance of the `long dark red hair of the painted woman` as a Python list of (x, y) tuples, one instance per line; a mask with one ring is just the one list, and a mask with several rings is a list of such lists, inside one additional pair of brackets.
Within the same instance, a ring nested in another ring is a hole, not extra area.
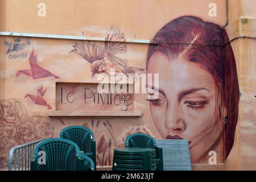
[(215, 126), (221, 119), (226, 121), (223, 133), (226, 159), (234, 144), (240, 94), (236, 60), (228, 34), (217, 24), (195, 16), (181, 16), (167, 23), (151, 40), (146, 69), (155, 52), (170, 60), (182, 58), (197, 63), (213, 76), (218, 89)]

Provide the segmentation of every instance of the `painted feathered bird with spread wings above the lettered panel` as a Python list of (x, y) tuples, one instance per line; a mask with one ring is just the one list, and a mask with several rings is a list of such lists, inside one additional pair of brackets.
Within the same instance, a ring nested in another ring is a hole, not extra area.
[(106, 37), (105, 48), (97, 46), (95, 43), (75, 43), (72, 52), (78, 53), (82, 58), (88, 61), (92, 76), (96, 73), (106, 73), (110, 75), (110, 69), (115, 69), (115, 73), (141, 74), (144, 72), (142, 68), (127, 67), (127, 60), (117, 56), (118, 53), (126, 53), (126, 39), (119, 30), (110, 28), (110, 32)]

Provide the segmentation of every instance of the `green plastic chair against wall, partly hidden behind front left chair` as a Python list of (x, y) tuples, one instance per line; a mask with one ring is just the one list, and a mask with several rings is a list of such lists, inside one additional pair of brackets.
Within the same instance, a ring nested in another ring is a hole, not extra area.
[(60, 138), (75, 142), (80, 148), (80, 154), (88, 156), (96, 164), (96, 142), (90, 129), (84, 126), (68, 126), (60, 131)]

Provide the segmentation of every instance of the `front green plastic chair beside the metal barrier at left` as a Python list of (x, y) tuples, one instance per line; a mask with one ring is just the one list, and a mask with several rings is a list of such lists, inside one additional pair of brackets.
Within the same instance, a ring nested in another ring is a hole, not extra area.
[(93, 160), (79, 153), (79, 147), (71, 140), (43, 140), (34, 148), (31, 171), (94, 171)]

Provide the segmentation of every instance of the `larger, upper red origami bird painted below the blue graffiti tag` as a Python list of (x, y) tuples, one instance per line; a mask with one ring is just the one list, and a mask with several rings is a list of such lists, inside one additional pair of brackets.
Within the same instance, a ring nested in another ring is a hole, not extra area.
[(30, 58), (28, 60), (30, 61), (30, 69), (23, 69), (23, 70), (17, 71), (16, 77), (24, 74), (29, 77), (32, 77), (33, 80), (38, 78), (45, 78), (45, 77), (54, 77), (55, 79), (60, 78), (38, 65), (38, 61), (37, 61), (38, 58), (34, 53), (34, 49), (32, 50), (30, 54)]

